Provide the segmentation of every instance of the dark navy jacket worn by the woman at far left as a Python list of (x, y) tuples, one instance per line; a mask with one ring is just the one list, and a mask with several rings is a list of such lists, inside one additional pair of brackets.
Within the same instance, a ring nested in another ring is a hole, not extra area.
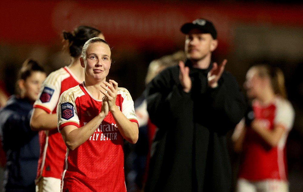
[(32, 104), (12, 96), (0, 110), (0, 135), (6, 153), (5, 190), (35, 191), (39, 159), (38, 132), (32, 131), (29, 120)]

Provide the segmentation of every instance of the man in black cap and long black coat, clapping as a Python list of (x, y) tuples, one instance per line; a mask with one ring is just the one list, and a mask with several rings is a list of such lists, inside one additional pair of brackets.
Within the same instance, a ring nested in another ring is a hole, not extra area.
[(149, 191), (230, 191), (225, 134), (245, 113), (233, 75), (211, 53), (214, 25), (197, 19), (181, 27), (187, 60), (163, 70), (147, 86), (148, 113), (158, 127), (151, 149)]

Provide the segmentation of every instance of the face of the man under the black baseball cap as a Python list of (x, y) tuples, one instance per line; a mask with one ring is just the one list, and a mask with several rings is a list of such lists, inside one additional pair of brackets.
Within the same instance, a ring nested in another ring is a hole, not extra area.
[(201, 33), (198, 29), (192, 29), (185, 37), (185, 53), (188, 59), (199, 61), (211, 56), (217, 48), (218, 41), (209, 33)]

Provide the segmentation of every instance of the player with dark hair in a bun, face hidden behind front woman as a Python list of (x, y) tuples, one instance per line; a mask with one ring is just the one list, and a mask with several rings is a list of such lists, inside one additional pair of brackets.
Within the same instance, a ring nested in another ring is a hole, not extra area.
[(80, 64), (80, 55), (84, 43), (92, 37), (104, 39), (100, 30), (88, 26), (79, 26), (72, 32), (63, 32), (67, 41), (71, 63), (52, 72), (45, 79), (40, 96), (34, 104), (30, 125), (38, 130), (40, 157), (38, 162), (37, 191), (60, 191), (61, 173), (66, 154), (66, 146), (57, 129), (56, 107), (63, 91), (84, 81), (84, 69)]

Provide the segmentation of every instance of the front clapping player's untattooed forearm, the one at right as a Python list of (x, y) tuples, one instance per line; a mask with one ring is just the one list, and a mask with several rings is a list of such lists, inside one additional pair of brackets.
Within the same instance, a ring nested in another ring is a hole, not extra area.
[(135, 144), (139, 137), (137, 123), (129, 121), (120, 110), (112, 110), (111, 113), (123, 138)]

